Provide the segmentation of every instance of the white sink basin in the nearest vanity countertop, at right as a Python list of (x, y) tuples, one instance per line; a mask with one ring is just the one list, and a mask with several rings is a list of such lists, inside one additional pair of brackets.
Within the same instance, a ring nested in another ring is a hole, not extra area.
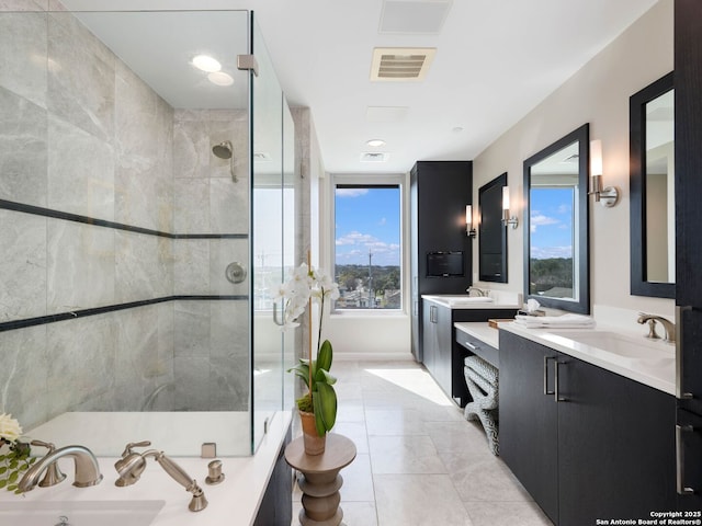
[(675, 359), (675, 347), (663, 341), (649, 341), (644, 336), (634, 338), (613, 331), (570, 330), (548, 331), (553, 336), (571, 340), (588, 345), (598, 352), (614, 355), (616, 358), (647, 363), (665, 364)]

